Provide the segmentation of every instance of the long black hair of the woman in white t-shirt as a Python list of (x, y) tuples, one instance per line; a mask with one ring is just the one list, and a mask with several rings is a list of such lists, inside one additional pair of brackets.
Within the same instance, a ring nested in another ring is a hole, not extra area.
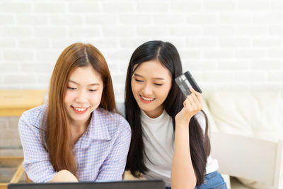
[[(145, 42), (137, 47), (129, 60), (127, 69), (127, 78), (125, 86), (125, 113), (126, 120), (132, 127), (132, 139), (129, 147), (129, 154), (127, 156), (126, 169), (129, 170), (133, 176), (139, 176), (140, 173), (146, 173), (148, 170), (144, 163), (146, 157), (144, 151), (143, 132), (141, 130), (141, 110), (132, 93), (131, 80), (134, 71), (143, 62), (157, 59), (164, 67), (166, 67), (172, 76), (171, 90), (168, 93), (166, 100), (163, 102), (163, 107), (171, 116), (173, 121), (173, 130), (175, 131), (175, 115), (183, 108), (185, 96), (175, 84), (175, 77), (182, 74), (182, 64), (178, 50), (170, 42), (163, 42), (159, 40)], [(206, 127), (203, 134), (200, 123), (197, 122), (195, 116), (190, 119), (190, 154), (192, 159), (192, 166), (197, 177), (197, 185), (204, 181), (205, 168), (207, 164), (207, 156), (210, 153), (210, 143), (207, 136), (208, 124), (207, 116), (203, 112)]]

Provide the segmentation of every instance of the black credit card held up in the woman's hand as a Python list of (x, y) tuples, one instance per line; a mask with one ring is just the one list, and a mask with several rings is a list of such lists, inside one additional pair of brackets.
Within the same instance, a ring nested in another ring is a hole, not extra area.
[(195, 91), (202, 93), (202, 90), (200, 90), (200, 87), (197, 85), (197, 82), (195, 82), (190, 71), (186, 71), (184, 74), (176, 77), (175, 82), (178, 84), (185, 97), (191, 94), (190, 87), (194, 88)]

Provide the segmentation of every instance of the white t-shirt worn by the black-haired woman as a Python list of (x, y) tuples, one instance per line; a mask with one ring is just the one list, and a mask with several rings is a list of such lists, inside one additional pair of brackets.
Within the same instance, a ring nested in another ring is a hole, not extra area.
[[(200, 122), (202, 130), (205, 129), (205, 118), (202, 112), (195, 118)], [(147, 179), (162, 179), (166, 187), (171, 187), (171, 166), (173, 161), (173, 122), (166, 110), (158, 118), (149, 118), (141, 110), (141, 126), (144, 132), (145, 165), (149, 169), (144, 177)], [(207, 157), (206, 173), (218, 169), (218, 161), (212, 156)]]

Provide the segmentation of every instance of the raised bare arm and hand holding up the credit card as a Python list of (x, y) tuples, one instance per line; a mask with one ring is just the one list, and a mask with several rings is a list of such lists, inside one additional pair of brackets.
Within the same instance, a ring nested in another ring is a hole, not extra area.
[(184, 101), (184, 108), (175, 117), (175, 146), (171, 170), (173, 189), (195, 188), (197, 178), (190, 157), (189, 122), (202, 109), (200, 93), (190, 88), (192, 94)]

